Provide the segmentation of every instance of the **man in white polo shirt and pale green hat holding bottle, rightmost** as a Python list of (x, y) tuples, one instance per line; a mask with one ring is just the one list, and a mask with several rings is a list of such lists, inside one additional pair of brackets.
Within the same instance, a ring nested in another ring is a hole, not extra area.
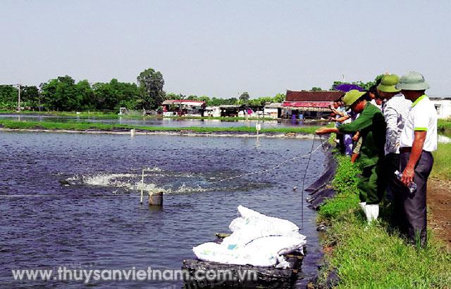
[[(437, 149), (437, 112), (424, 91), (429, 85), (423, 75), (409, 72), (396, 85), (412, 101), (400, 139), (400, 172), (406, 188), (400, 193), (404, 205), (405, 226), (402, 231), (412, 243), (426, 246), (426, 187), (433, 166), (432, 152)], [(414, 182), (416, 191), (407, 186)]]

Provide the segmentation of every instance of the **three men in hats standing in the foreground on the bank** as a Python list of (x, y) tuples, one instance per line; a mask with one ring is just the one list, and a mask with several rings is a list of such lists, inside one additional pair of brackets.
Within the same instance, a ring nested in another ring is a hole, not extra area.
[(433, 166), (431, 153), (437, 148), (437, 113), (425, 94), (428, 88), (419, 72), (384, 75), (377, 86), (381, 108), (371, 103), (368, 91), (348, 91), (342, 101), (359, 117), (339, 127), (316, 130), (316, 134), (359, 132), (363, 169), (357, 187), (366, 219), (378, 218), (379, 203), (387, 191), (394, 204), (395, 225), (421, 246), (427, 241), (426, 186)]

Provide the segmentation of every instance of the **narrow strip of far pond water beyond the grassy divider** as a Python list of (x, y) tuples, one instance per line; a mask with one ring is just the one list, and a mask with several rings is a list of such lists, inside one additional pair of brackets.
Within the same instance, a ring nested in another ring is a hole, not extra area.
[[(155, 127), (255, 127), (256, 120), (199, 120), (199, 119), (174, 119), (162, 117), (128, 118), (117, 117), (113, 119), (101, 119), (96, 117), (58, 117), (54, 115), (6, 115), (0, 114), (0, 120), (19, 120), (34, 122), (101, 122), (108, 124), (135, 124)], [(308, 125), (320, 125), (318, 122), (302, 122), (299, 120), (264, 120), (261, 128), (275, 127), (302, 127)]]

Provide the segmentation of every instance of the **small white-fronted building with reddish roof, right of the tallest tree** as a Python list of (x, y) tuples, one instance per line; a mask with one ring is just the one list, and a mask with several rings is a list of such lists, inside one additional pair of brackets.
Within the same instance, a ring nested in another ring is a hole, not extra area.
[(205, 101), (190, 101), (185, 99), (163, 101), (163, 116), (204, 116)]

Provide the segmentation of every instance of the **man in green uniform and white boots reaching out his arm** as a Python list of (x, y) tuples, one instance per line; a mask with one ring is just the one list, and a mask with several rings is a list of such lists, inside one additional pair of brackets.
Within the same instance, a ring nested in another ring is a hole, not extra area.
[(354, 113), (360, 113), (360, 116), (354, 122), (342, 124), (338, 128), (321, 127), (316, 130), (316, 134), (360, 131), (363, 140), (360, 153), (364, 169), (357, 184), (359, 205), (364, 210), (366, 219), (371, 222), (378, 218), (379, 203), (385, 191), (383, 160), (386, 124), (381, 110), (369, 102), (366, 91), (351, 90), (345, 94), (343, 102)]

